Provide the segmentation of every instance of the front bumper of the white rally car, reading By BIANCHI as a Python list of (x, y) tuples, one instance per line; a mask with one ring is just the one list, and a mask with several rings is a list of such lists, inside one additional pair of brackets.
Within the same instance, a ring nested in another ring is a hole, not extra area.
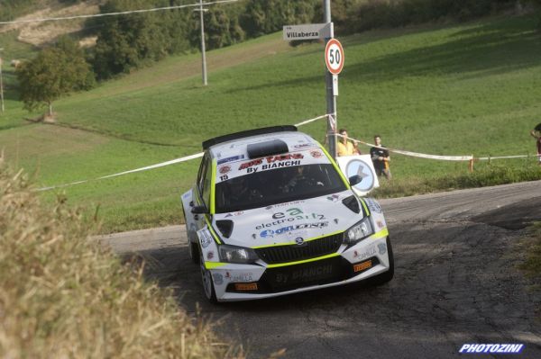
[(209, 269), (218, 301), (248, 301), (359, 282), (390, 268), (387, 238), (367, 238), (333, 255), (279, 265), (224, 264)]

